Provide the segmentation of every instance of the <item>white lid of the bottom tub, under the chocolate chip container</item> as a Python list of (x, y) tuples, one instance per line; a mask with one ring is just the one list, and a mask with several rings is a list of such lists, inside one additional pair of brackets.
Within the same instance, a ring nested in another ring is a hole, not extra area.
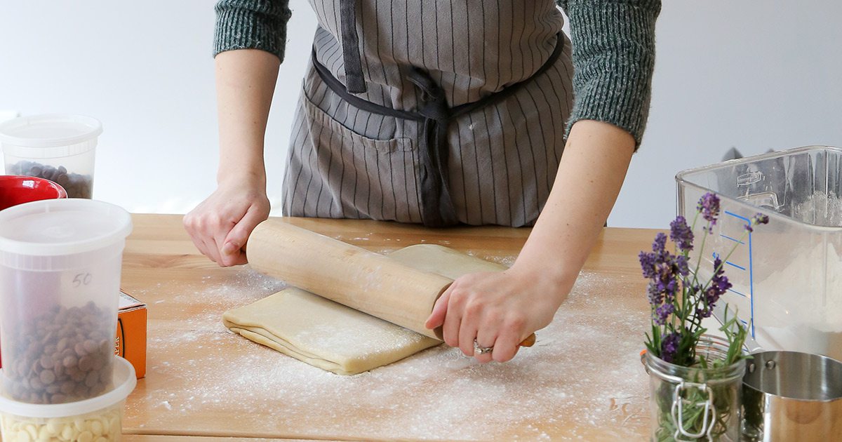
[(53, 404), (18, 402), (0, 395), (0, 413), (24, 418), (67, 418), (114, 407), (129, 397), (137, 385), (135, 368), (120, 356), (114, 358), (114, 390), (84, 401)]

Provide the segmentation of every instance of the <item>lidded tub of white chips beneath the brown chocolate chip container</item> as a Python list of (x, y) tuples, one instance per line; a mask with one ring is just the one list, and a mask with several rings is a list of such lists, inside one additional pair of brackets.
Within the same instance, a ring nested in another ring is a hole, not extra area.
[[(120, 440), (125, 398), (135, 389), (135, 369), (125, 359), (114, 358), (109, 391), (90, 399), (41, 405), (0, 397), (3, 442), (63, 440), (106, 442)], [(4, 370), (0, 370), (3, 373)]]

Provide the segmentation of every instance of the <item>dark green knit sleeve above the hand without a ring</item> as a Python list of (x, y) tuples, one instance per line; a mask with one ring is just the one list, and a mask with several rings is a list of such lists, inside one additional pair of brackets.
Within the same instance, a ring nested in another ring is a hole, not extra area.
[(284, 61), (289, 0), (219, 0), (214, 51), (260, 49)]

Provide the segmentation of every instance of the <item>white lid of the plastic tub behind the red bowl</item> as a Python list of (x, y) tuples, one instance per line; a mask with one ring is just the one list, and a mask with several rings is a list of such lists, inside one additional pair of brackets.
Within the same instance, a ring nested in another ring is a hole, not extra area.
[(102, 123), (91, 117), (31, 115), (0, 123), (0, 145), (14, 157), (68, 157), (96, 147), (102, 133)]

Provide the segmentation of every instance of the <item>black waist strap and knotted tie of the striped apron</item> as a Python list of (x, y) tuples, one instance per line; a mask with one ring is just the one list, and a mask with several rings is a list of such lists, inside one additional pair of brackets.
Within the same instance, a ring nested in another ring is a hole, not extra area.
[[(391, 116), (402, 120), (421, 121), (424, 123), (424, 136), (421, 138), (420, 146), (418, 146), (418, 157), (420, 161), (420, 182), (418, 185), (421, 199), (421, 219), (424, 221), (424, 226), (444, 227), (455, 226), (459, 223), (459, 220), (456, 218), (456, 210), (453, 208), (453, 201), (450, 199), (450, 186), (447, 178), (449, 154), (447, 129), (450, 121), (460, 115), (468, 114), (474, 110), (498, 104), (504, 99), (508, 99), (514, 93), (524, 88), (530, 80), (540, 76), (552, 67), (558, 60), (558, 57), (561, 56), (563, 46), (564, 37), (559, 33), (557, 35), (555, 50), (552, 51), (550, 57), (531, 77), (472, 103), (460, 104), (453, 108), (447, 105), (444, 89), (438, 83), (434, 82), (433, 78), (429, 76), (429, 73), (418, 67), (413, 67), (408, 74), (408, 80), (421, 92), (421, 101), (416, 111), (387, 108), (386, 106), (371, 103), (366, 99), (361, 99), (349, 93), (349, 88), (346, 88), (342, 82), (336, 77), (333, 77), (333, 74), (328, 68), (318, 61), (315, 45), (313, 45), (312, 62), (318, 76), (322, 78), (322, 82), (348, 104), (373, 114)], [(345, 68), (347, 72), (347, 65)], [(350, 83), (352, 83), (352, 79), (349, 77), (349, 87)]]

